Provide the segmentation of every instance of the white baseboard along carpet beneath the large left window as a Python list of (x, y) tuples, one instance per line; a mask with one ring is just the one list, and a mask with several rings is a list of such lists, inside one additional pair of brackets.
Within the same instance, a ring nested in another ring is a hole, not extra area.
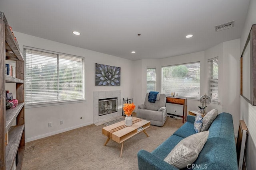
[(84, 126), (87, 126), (87, 125), (91, 125), (91, 124), (93, 124), (93, 122), (89, 122), (89, 123), (84, 123), (84, 124), (68, 127), (68, 128), (65, 128), (65, 129), (60, 129), (58, 131), (53, 131), (53, 132), (46, 133), (46, 134), (43, 134), (43, 135), (38, 135), (38, 136), (35, 136), (35, 137), (30, 137), (28, 139), (25, 139), (25, 143), (31, 142), (31, 141), (35, 141), (37, 139), (41, 139), (41, 138), (44, 138), (44, 137), (49, 137), (49, 136), (52, 136), (52, 135), (56, 135), (58, 133), (62, 133), (62, 132), (70, 131), (70, 130), (73, 130), (73, 129), (77, 129), (79, 127), (84, 127)]

